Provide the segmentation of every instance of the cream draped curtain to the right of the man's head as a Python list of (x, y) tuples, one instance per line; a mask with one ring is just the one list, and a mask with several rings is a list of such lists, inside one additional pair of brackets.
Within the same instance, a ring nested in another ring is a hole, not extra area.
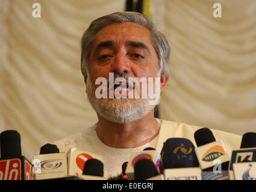
[[(171, 47), (161, 118), (256, 132), (256, 1), (153, 2)], [(213, 17), (216, 2), (221, 18)]]

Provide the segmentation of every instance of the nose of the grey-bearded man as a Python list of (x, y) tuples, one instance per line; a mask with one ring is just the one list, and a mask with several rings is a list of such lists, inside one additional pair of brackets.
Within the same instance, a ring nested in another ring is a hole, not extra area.
[(111, 71), (116, 72), (118, 74), (130, 74), (131, 73), (131, 66), (130, 61), (126, 57), (125, 53), (119, 52), (116, 55), (116, 59), (114, 60)]

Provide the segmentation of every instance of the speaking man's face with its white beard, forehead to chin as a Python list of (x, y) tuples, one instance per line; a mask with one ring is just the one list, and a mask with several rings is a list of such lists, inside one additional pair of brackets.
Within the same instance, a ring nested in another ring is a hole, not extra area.
[[(88, 70), (87, 95), (98, 115), (124, 123), (134, 121), (134, 118), (142, 118), (154, 109), (147, 99), (107, 98), (99, 101), (95, 97), (95, 90), (99, 86), (95, 85), (95, 80), (98, 77), (108, 80), (109, 73), (139, 79), (159, 77), (158, 57), (151, 43), (151, 32), (143, 26), (126, 22), (102, 28), (96, 35)], [(141, 93), (142, 87), (140, 96)]]

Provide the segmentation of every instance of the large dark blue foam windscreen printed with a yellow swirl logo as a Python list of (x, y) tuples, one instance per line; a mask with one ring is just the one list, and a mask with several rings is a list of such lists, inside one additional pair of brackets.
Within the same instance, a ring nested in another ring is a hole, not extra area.
[(164, 169), (199, 167), (194, 149), (195, 146), (189, 139), (167, 139), (161, 150)]

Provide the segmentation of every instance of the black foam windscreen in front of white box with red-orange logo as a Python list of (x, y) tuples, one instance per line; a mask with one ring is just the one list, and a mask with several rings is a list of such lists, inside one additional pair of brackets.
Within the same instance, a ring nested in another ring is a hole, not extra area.
[(84, 164), (83, 175), (102, 176), (104, 175), (104, 165), (100, 160), (91, 158)]

